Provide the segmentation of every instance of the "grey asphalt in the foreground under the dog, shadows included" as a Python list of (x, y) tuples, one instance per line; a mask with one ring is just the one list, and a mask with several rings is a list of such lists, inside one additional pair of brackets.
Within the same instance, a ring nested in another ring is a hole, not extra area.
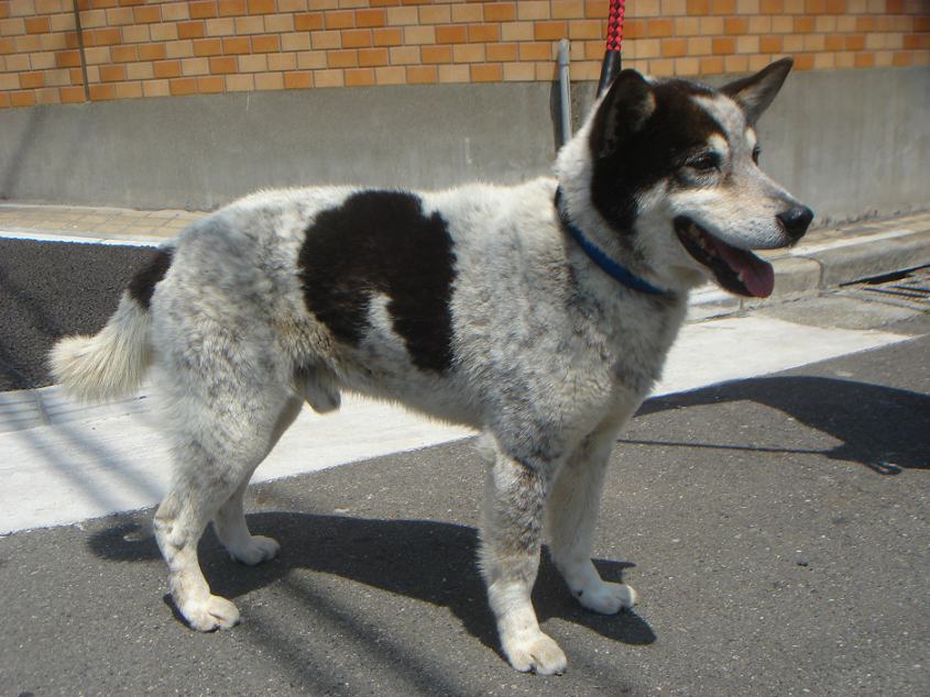
[[(896, 328), (930, 332), (924, 316)], [(152, 511), (0, 539), (2, 695), (930, 694), (930, 339), (647, 402), (613, 455), (600, 617), (544, 558), (556, 677), (497, 652), (469, 443), (255, 487), (256, 568), (203, 543), (244, 623), (165, 600)]]

